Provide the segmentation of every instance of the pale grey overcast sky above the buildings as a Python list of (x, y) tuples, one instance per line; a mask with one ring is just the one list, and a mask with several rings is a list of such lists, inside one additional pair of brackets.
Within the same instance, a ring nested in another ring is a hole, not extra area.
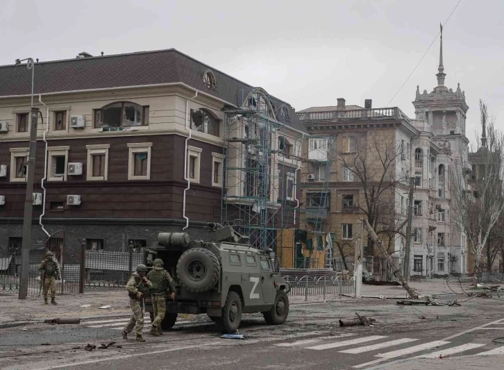
[[(0, 0), (0, 65), (174, 47), (301, 110), (386, 106), (458, 0)], [(466, 92), (467, 136), (478, 99), (504, 119), (504, 1), (462, 0), (444, 28), (445, 85)], [(436, 85), (439, 40), (390, 106), (414, 117), (417, 85)], [(36, 89), (35, 89), (36, 90)]]

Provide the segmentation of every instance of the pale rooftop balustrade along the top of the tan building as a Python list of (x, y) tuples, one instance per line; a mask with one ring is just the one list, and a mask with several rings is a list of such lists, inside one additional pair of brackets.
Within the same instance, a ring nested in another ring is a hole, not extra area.
[(399, 108), (373, 108), (358, 110), (329, 110), (326, 112), (296, 113), (301, 121), (362, 121), (376, 119), (405, 119), (410, 121)]

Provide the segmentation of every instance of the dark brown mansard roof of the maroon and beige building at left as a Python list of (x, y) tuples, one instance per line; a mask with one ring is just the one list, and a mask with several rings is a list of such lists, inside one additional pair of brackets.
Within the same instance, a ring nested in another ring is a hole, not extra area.
[[(217, 81), (215, 90), (203, 82), (203, 74), (208, 70)], [(35, 94), (162, 83), (185, 83), (235, 106), (240, 106), (253, 88), (176, 49), (35, 63)], [(0, 67), (0, 97), (28, 94), (31, 94), (31, 71), (25, 64)], [(274, 96), (270, 98), (279, 121), (306, 132), (288, 103)], [(287, 120), (280, 115), (284, 105), (289, 110)]]

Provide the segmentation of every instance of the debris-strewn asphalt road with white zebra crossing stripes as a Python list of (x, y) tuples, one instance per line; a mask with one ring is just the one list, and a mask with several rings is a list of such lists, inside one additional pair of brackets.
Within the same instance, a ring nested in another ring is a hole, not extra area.
[[(376, 324), (338, 326), (340, 317), (355, 311), (376, 318)], [(244, 340), (221, 339), (211, 321), (198, 317), (181, 320), (162, 337), (150, 337), (146, 325), (146, 343), (135, 342), (133, 335), (124, 341), (126, 320), (0, 331), (0, 369), (392, 369), (394, 362), (419, 355), (442, 355), (449, 361), (453, 356), (504, 353), (504, 343), (492, 342), (504, 337), (500, 302), (414, 309), (380, 301), (364, 307), (353, 301), (297, 305), (282, 326), (267, 326), (260, 315), (247, 316), (240, 328)], [(83, 349), (87, 343), (112, 341), (116, 343), (108, 349)]]

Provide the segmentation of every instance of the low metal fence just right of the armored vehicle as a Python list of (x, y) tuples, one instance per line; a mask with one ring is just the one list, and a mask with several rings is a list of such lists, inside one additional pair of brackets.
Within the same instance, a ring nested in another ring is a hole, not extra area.
[(341, 296), (355, 293), (355, 278), (353, 276), (284, 276), (290, 286), (289, 296)]

